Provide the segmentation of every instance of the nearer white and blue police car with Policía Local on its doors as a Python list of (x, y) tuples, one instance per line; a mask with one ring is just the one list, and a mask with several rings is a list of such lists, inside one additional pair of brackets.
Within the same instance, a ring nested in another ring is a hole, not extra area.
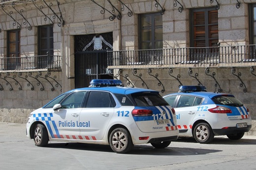
[[(90, 87), (73, 89), (33, 111), (27, 136), (35, 145), (48, 141), (110, 144), (117, 153), (134, 144), (167, 147), (177, 140), (174, 109), (158, 91), (131, 88), (120, 80), (92, 80)], [(102, 87), (103, 86), (103, 87)]]

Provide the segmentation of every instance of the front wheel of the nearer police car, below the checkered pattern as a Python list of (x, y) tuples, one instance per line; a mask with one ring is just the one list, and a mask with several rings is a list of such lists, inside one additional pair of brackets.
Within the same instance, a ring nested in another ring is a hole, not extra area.
[(49, 141), (48, 132), (44, 125), (36, 124), (34, 127), (34, 144), (36, 146), (46, 146)]

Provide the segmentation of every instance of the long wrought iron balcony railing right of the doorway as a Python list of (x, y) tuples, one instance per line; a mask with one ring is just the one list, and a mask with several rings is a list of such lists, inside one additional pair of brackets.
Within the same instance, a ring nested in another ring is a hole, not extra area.
[(256, 45), (108, 51), (108, 66), (256, 62)]

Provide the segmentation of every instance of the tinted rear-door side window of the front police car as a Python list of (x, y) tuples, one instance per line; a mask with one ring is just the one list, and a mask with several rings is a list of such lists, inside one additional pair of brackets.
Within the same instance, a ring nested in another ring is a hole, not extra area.
[(113, 108), (115, 106), (112, 95), (105, 91), (91, 91), (86, 104), (86, 108)]

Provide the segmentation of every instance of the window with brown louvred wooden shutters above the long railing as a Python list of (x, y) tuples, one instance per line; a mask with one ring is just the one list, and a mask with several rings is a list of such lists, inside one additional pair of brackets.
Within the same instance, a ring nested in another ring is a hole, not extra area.
[(218, 10), (203, 8), (191, 10), (192, 47), (218, 47)]

